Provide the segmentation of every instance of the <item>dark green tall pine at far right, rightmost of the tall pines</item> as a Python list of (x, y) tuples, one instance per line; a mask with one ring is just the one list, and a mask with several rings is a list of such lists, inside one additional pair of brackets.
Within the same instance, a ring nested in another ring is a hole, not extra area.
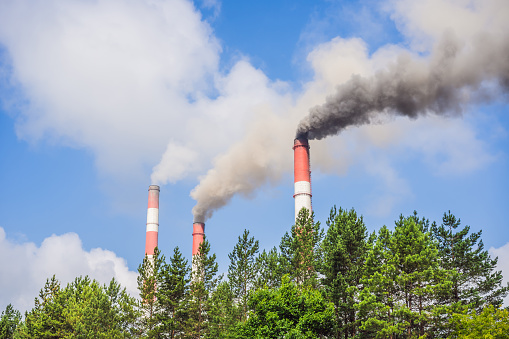
[(495, 271), (498, 258), (491, 259), (484, 250), (482, 231), (470, 232), (470, 226), (457, 230), (461, 220), (451, 212), (444, 213), (442, 224), (431, 226), (437, 240), (441, 265), (451, 270), (452, 288), (444, 291), (439, 304), (470, 305), (480, 311), (485, 305), (502, 305), (508, 286), (502, 286), (502, 272)]

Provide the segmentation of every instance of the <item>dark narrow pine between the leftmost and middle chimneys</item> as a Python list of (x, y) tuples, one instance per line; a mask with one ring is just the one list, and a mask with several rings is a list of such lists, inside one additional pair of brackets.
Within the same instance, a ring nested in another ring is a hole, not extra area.
[(189, 273), (191, 269), (178, 247), (173, 250), (168, 264), (161, 266), (156, 289), (158, 313), (157, 333), (165, 338), (182, 338), (184, 322), (187, 318), (185, 309), (189, 298)]

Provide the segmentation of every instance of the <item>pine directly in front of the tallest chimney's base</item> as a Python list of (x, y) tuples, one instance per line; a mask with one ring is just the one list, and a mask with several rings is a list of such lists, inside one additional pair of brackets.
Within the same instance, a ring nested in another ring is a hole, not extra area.
[(320, 257), (320, 240), (323, 230), (320, 223), (314, 222), (314, 214), (302, 208), (292, 226), (290, 233), (286, 233), (279, 246), (283, 258), (283, 265), (290, 276), (298, 284), (316, 287), (318, 277), (316, 264)]

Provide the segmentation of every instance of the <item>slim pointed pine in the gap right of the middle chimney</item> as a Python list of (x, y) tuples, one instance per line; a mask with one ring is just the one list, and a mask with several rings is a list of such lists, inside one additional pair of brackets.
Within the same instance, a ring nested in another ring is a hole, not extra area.
[(244, 230), (233, 251), (228, 254), (230, 258), (228, 281), (235, 301), (240, 307), (239, 320), (241, 321), (246, 319), (247, 300), (258, 274), (256, 255), (259, 247), (258, 240), (255, 241), (254, 237), (249, 237), (249, 231)]

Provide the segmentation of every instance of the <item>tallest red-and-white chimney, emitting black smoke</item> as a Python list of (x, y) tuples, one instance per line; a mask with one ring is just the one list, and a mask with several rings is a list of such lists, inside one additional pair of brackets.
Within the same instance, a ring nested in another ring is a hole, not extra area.
[(295, 180), (295, 220), (305, 207), (311, 213), (311, 170), (309, 168), (309, 143), (306, 137), (293, 141), (293, 170)]

